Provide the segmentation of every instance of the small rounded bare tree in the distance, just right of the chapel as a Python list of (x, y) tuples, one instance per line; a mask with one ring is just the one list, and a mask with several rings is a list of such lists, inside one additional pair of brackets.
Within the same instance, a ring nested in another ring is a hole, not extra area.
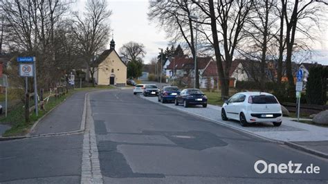
[(129, 62), (142, 62), (145, 54), (145, 46), (137, 42), (128, 42), (120, 48), (120, 55), (126, 57)]

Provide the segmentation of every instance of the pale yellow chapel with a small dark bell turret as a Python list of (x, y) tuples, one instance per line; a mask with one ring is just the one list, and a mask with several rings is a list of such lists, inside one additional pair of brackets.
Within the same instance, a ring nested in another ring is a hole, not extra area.
[(104, 50), (95, 60), (95, 82), (99, 85), (125, 86), (127, 84), (127, 65), (115, 50), (115, 42), (111, 40), (110, 48)]

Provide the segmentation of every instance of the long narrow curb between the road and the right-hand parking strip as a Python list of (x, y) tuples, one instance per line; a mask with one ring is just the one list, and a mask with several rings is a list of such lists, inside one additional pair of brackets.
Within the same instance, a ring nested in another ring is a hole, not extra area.
[[(139, 98), (142, 98), (142, 97), (140, 97), (140, 96), (138, 96), (138, 97), (139, 97)], [(148, 100), (147, 98), (142, 98), (142, 99)], [(148, 100), (148, 101), (149, 101), (149, 102), (153, 102), (152, 100)], [(153, 103), (155, 103), (155, 104), (161, 104), (161, 105), (163, 105), (164, 107), (168, 107), (168, 106), (166, 106), (165, 104), (162, 104), (162, 103), (157, 103), (157, 102), (153, 102)], [(168, 107), (168, 108), (170, 108), (170, 109), (175, 109), (175, 108), (172, 108), (172, 107)], [(270, 141), (270, 142), (275, 142), (275, 143), (278, 143), (278, 144), (280, 144), (280, 145), (286, 145), (286, 146), (289, 146), (289, 147), (291, 147), (291, 148), (293, 148), (293, 149), (298, 149), (298, 150), (300, 150), (300, 151), (304, 151), (304, 152), (307, 152), (307, 153), (309, 153), (309, 154), (313, 154), (313, 155), (316, 155), (316, 156), (320, 156), (320, 157), (322, 157), (322, 158), (328, 158), (328, 154), (325, 154), (325, 153), (322, 153), (321, 151), (316, 151), (316, 150), (314, 150), (314, 149), (310, 149), (310, 148), (307, 148), (307, 147), (304, 147), (304, 146), (301, 146), (301, 145), (295, 144), (295, 143), (293, 143), (293, 142), (282, 141), (282, 140), (274, 140), (274, 139), (271, 139), (271, 138), (266, 138), (266, 137), (264, 137), (264, 136), (259, 136), (259, 135), (253, 134), (251, 131), (246, 131), (246, 130), (244, 130), (244, 129), (239, 129), (239, 128), (237, 128), (237, 127), (233, 127), (233, 126), (230, 126), (230, 125), (226, 125), (226, 124), (224, 124), (224, 123), (222, 123), (222, 122), (219, 122), (218, 120), (211, 120), (210, 118), (206, 118), (206, 117), (204, 117), (204, 116), (199, 116), (198, 114), (191, 113), (191, 112), (189, 112), (189, 111), (184, 111), (184, 110), (182, 110), (182, 109), (176, 109), (176, 110), (178, 110), (178, 111), (182, 111), (182, 112), (185, 112), (185, 113), (189, 113), (189, 114), (192, 115), (192, 116), (197, 116), (198, 118), (202, 118), (202, 119), (204, 119), (204, 120), (208, 120), (208, 121), (210, 121), (210, 122), (214, 122), (214, 123), (217, 124), (217, 125), (222, 125), (222, 126), (224, 126), (224, 127), (227, 127), (227, 128), (229, 128), (229, 129), (233, 129), (233, 130), (235, 130), (235, 131), (241, 131), (242, 133), (244, 133), (244, 134), (248, 134), (248, 135), (250, 135), (250, 136), (255, 136), (255, 137), (257, 137), (257, 138), (262, 138), (262, 139), (264, 139), (264, 140), (267, 140), (267, 141)]]

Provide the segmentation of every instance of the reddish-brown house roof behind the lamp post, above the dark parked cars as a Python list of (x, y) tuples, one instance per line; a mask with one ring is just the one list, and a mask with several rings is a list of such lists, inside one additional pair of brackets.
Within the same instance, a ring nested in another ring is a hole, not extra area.
[[(212, 60), (212, 57), (197, 57), (197, 64), (199, 70), (205, 69), (208, 65), (208, 62)], [(174, 66), (175, 65), (175, 66)], [(185, 57), (176, 57), (172, 59), (172, 62), (167, 66), (169, 70), (184, 70), (184, 69), (193, 69), (194, 68), (194, 59), (185, 58)]]

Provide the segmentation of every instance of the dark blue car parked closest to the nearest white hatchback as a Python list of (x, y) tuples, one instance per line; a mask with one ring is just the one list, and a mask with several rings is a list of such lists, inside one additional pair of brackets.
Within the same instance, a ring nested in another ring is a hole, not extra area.
[(207, 107), (208, 98), (199, 89), (183, 89), (180, 95), (176, 95), (174, 104), (183, 104), (184, 107), (201, 104), (203, 107)]

